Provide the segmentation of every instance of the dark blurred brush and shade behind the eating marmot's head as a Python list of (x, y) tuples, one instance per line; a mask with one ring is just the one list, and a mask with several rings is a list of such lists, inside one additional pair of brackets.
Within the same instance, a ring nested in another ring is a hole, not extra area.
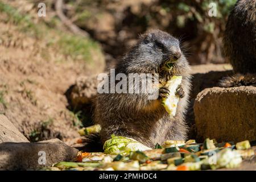
[[(24, 1), (24, 0), (22, 0)], [(56, 1), (46, 3), (47, 16), (40, 18), (55, 27)], [(109, 67), (136, 43), (139, 34), (159, 28), (179, 38), (192, 65), (225, 63), (222, 36), (229, 11), (236, 0), (63, 0), (60, 11), (75, 26), (101, 44)], [(217, 16), (210, 17), (209, 4), (216, 3)], [(21, 8), (21, 7), (20, 7)], [(26, 6), (24, 6), (26, 8)]]

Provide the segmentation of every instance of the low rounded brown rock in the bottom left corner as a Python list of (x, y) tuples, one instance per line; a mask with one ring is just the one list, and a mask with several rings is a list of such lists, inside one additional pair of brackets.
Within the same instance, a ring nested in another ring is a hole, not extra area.
[(67, 146), (59, 139), (38, 143), (4, 142), (0, 144), (0, 170), (27, 170), (51, 166), (60, 161), (74, 160), (77, 152), (76, 148)]

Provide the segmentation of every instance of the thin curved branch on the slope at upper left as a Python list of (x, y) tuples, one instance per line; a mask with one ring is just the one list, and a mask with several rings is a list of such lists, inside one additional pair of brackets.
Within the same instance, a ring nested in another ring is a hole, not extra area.
[(80, 35), (80, 36), (85, 36), (85, 37), (89, 36), (88, 32), (86, 32), (84, 30), (81, 30), (81, 28), (79, 28), (75, 24), (73, 24), (72, 21), (69, 20), (67, 18), (67, 16), (64, 15), (64, 13), (63, 13), (63, 0), (56, 0), (55, 1), (55, 10), (56, 10), (56, 14), (57, 14), (57, 16), (59, 16), (61, 22), (63, 22), (63, 24), (65, 26), (67, 26), (69, 28), (69, 30), (71, 30), (74, 34)]

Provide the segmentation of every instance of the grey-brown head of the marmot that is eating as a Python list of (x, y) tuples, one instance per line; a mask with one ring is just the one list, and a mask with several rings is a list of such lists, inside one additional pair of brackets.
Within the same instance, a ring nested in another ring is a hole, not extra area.
[[(167, 32), (151, 30), (141, 35), (118, 67), (128, 73), (171, 72), (179, 75), (188, 63), (181, 52), (179, 40)], [(168, 67), (172, 69), (165, 69)]]

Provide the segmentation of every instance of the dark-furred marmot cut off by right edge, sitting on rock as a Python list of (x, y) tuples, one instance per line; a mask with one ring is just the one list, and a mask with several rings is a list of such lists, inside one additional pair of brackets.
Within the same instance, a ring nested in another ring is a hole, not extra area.
[(256, 86), (256, 0), (238, 0), (224, 32), (224, 54), (236, 75), (221, 80), (224, 87)]

